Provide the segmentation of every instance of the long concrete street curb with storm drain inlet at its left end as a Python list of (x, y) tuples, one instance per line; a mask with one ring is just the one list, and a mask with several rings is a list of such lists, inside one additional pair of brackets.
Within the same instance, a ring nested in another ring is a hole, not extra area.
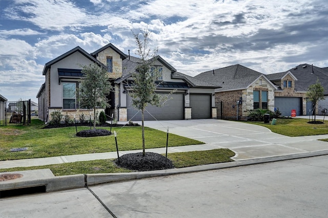
[[(17, 171), (17, 172), (2, 172), (2, 174), (20, 173), (23, 175), (22, 179), (0, 182), (1, 191), (14, 190), (20, 188), (46, 186), (46, 192), (61, 191), (67, 189), (84, 188), (88, 186), (95, 186), (104, 183), (115, 183), (129, 180), (145, 179), (151, 177), (161, 177), (177, 175), (181, 173), (199, 172), (206, 170), (216, 170), (224, 168), (232, 168), (239, 166), (255, 165), (262, 163), (270, 163), (276, 161), (286, 161), (300, 158), (309, 158), (328, 155), (328, 150), (305, 152), (293, 155), (275, 156), (267, 158), (258, 158), (250, 160), (241, 160), (227, 163), (207, 164), (200, 166), (191, 166), (175, 169), (141, 171), (141, 172), (122, 172), (122, 173), (99, 173), (99, 174), (77, 174), (69, 176), (55, 177), (50, 169)], [(40, 176), (42, 175), (42, 176)]]

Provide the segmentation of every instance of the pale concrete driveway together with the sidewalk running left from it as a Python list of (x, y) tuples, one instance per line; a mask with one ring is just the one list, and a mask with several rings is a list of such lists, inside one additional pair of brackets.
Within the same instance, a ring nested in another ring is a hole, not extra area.
[[(270, 129), (249, 123), (227, 120), (172, 120), (172, 121), (145, 121), (145, 126), (167, 131), (183, 137), (188, 137), (206, 144), (169, 147), (168, 152), (183, 152), (193, 150), (211, 150), (229, 148), (236, 155), (235, 161), (260, 159), (267, 157), (328, 151), (328, 142), (318, 141), (327, 139), (328, 135), (288, 137), (272, 133)], [(147, 149), (148, 152), (165, 154), (166, 148)], [(119, 155), (141, 150), (120, 151)], [(70, 155), (50, 158), (34, 158), (24, 160), (0, 161), (0, 168), (20, 166), (43, 166), (76, 161), (100, 160), (117, 158), (115, 152), (96, 154)]]

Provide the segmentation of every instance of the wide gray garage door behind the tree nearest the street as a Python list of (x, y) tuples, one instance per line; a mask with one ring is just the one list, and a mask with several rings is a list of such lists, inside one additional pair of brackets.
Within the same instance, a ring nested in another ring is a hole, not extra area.
[[(156, 120), (182, 120), (185, 108), (184, 99), (185, 95), (183, 94), (172, 94), (162, 107), (148, 105), (146, 110), (149, 113), (145, 111), (145, 120), (155, 120), (155, 118)], [(128, 96), (127, 101), (128, 120), (141, 120), (141, 112), (138, 112), (132, 106), (132, 98), (130, 96)]]

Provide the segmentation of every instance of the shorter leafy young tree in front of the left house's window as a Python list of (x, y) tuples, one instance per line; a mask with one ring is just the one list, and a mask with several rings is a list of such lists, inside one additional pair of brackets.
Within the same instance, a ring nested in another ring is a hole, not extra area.
[(79, 102), (81, 108), (93, 109), (93, 129), (96, 128), (96, 108), (109, 106), (107, 97), (112, 91), (106, 69), (92, 63), (82, 66), (84, 78), (79, 84)]

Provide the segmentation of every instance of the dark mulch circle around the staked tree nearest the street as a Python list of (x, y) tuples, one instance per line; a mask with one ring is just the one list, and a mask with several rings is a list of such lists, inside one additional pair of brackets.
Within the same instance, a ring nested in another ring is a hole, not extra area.
[(174, 168), (171, 160), (154, 152), (146, 152), (145, 157), (142, 156), (142, 152), (122, 155), (119, 157), (119, 162), (118, 159), (116, 159), (114, 163), (119, 167), (124, 167), (136, 171), (151, 171)]

